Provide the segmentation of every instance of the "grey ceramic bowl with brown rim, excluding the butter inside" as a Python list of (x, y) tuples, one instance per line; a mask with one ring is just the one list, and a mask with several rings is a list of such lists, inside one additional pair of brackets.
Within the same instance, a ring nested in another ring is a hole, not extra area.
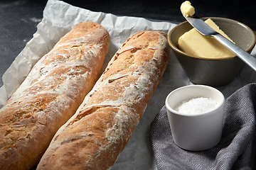
[[(227, 34), (236, 45), (247, 52), (251, 52), (255, 46), (255, 33), (245, 24), (228, 18), (211, 18), (221, 30)], [(206, 20), (207, 18), (202, 18)], [(175, 26), (168, 35), (169, 45), (174, 51), (178, 62), (186, 72), (188, 79), (193, 84), (205, 84), (208, 86), (224, 86), (229, 84), (239, 74), (245, 65), (240, 58), (236, 56), (226, 57), (224, 59), (205, 59), (187, 55), (177, 47), (178, 38), (191, 30), (192, 26), (183, 22)]]

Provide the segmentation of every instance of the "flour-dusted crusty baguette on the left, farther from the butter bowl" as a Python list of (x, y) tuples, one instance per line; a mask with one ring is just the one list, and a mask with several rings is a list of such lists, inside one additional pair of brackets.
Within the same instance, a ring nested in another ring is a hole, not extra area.
[(0, 110), (0, 169), (31, 169), (99, 78), (110, 45), (100, 24), (80, 23), (39, 60)]

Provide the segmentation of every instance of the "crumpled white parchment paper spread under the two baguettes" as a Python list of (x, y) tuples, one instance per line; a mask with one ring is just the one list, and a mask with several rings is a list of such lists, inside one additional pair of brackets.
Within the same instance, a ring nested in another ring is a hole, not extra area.
[[(38, 30), (26, 47), (16, 57), (9, 69), (4, 73), (4, 86), (0, 88), (0, 108), (7, 99), (14, 94), (14, 91), (22, 83), (23, 79), (31, 70), (31, 67), (51, 48), (60, 38), (68, 33), (76, 24), (85, 21), (100, 23), (110, 33), (110, 50), (102, 67), (102, 72), (107, 67), (118, 48), (127, 38), (142, 30), (161, 30), (165, 33), (176, 26), (176, 23), (166, 21), (149, 21), (145, 18), (114, 16), (110, 13), (93, 12), (66, 4), (63, 1), (49, 0), (43, 11), (43, 20), (38, 24)], [(256, 50), (252, 51), (256, 55)], [(238, 77), (227, 86), (218, 88), (225, 97), (233, 94), (234, 91), (250, 82), (256, 81), (255, 72), (249, 67), (242, 69)], [(149, 128), (155, 115), (164, 106), (166, 96), (180, 86), (186, 86), (191, 82), (183, 72), (174, 54), (171, 55), (169, 67), (162, 77), (154, 96), (144, 112), (142, 120), (137, 125), (132, 138), (119, 155), (114, 169), (156, 169), (156, 163), (149, 141)]]

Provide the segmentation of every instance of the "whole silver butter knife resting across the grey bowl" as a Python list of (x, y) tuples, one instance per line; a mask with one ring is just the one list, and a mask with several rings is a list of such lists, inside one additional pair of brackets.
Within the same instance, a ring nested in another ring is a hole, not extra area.
[[(184, 16), (184, 15), (183, 15)], [(236, 56), (240, 57), (240, 59), (245, 62), (248, 66), (250, 66), (255, 72), (256, 72), (256, 58), (250, 55), (245, 50), (242, 50), (242, 48), (238, 47), (238, 45), (235, 45), (233, 42), (225, 38), (223, 35), (218, 33), (217, 31), (213, 30), (210, 26), (208, 26), (207, 23), (205, 23), (201, 18), (196, 16), (196, 14), (193, 14), (193, 16), (184, 16), (188, 23), (193, 26), (193, 28), (196, 28), (199, 33), (206, 36), (214, 37), (216, 40), (218, 40), (220, 43), (225, 45), (225, 47), (228, 47), (230, 51), (232, 51)]]

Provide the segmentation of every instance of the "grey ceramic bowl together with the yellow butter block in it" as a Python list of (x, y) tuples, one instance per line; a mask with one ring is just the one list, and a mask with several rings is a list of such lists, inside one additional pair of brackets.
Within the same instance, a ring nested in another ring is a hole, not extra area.
[[(247, 52), (255, 47), (255, 33), (245, 24), (229, 18), (202, 18), (212, 28)], [(179, 23), (168, 35), (169, 45), (193, 84), (225, 86), (245, 65), (214, 38), (197, 32), (187, 21)]]

